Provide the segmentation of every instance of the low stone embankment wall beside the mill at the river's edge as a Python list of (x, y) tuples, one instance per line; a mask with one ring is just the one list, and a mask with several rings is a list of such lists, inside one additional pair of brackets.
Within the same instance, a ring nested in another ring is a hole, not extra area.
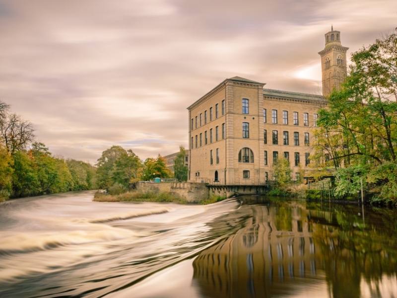
[(197, 203), (209, 197), (209, 190), (205, 183), (195, 182), (138, 182), (136, 189), (142, 192), (171, 192), (185, 198), (189, 203)]

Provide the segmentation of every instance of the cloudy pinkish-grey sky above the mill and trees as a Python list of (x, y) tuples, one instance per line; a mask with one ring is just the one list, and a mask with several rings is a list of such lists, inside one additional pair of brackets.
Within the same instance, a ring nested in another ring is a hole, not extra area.
[(0, 100), (55, 155), (165, 155), (226, 77), (320, 94), (331, 24), (351, 53), (393, 31), (397, 1), (0, 0)]

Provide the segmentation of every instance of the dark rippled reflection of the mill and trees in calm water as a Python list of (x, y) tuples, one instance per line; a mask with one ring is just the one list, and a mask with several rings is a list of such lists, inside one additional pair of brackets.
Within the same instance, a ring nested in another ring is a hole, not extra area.
[(364, 278), (372, 283), (371, 297), (381, 297), (376, 282), (396, 276), (396, 240), (387, 229), (361, 228), (347, 209), (324, 212), (304, 202), (243, 205), (245, 226), (199, 254), (193, 284), (203, 297), (293, 296), (326, 284), (322, 297), (358, 298)]

